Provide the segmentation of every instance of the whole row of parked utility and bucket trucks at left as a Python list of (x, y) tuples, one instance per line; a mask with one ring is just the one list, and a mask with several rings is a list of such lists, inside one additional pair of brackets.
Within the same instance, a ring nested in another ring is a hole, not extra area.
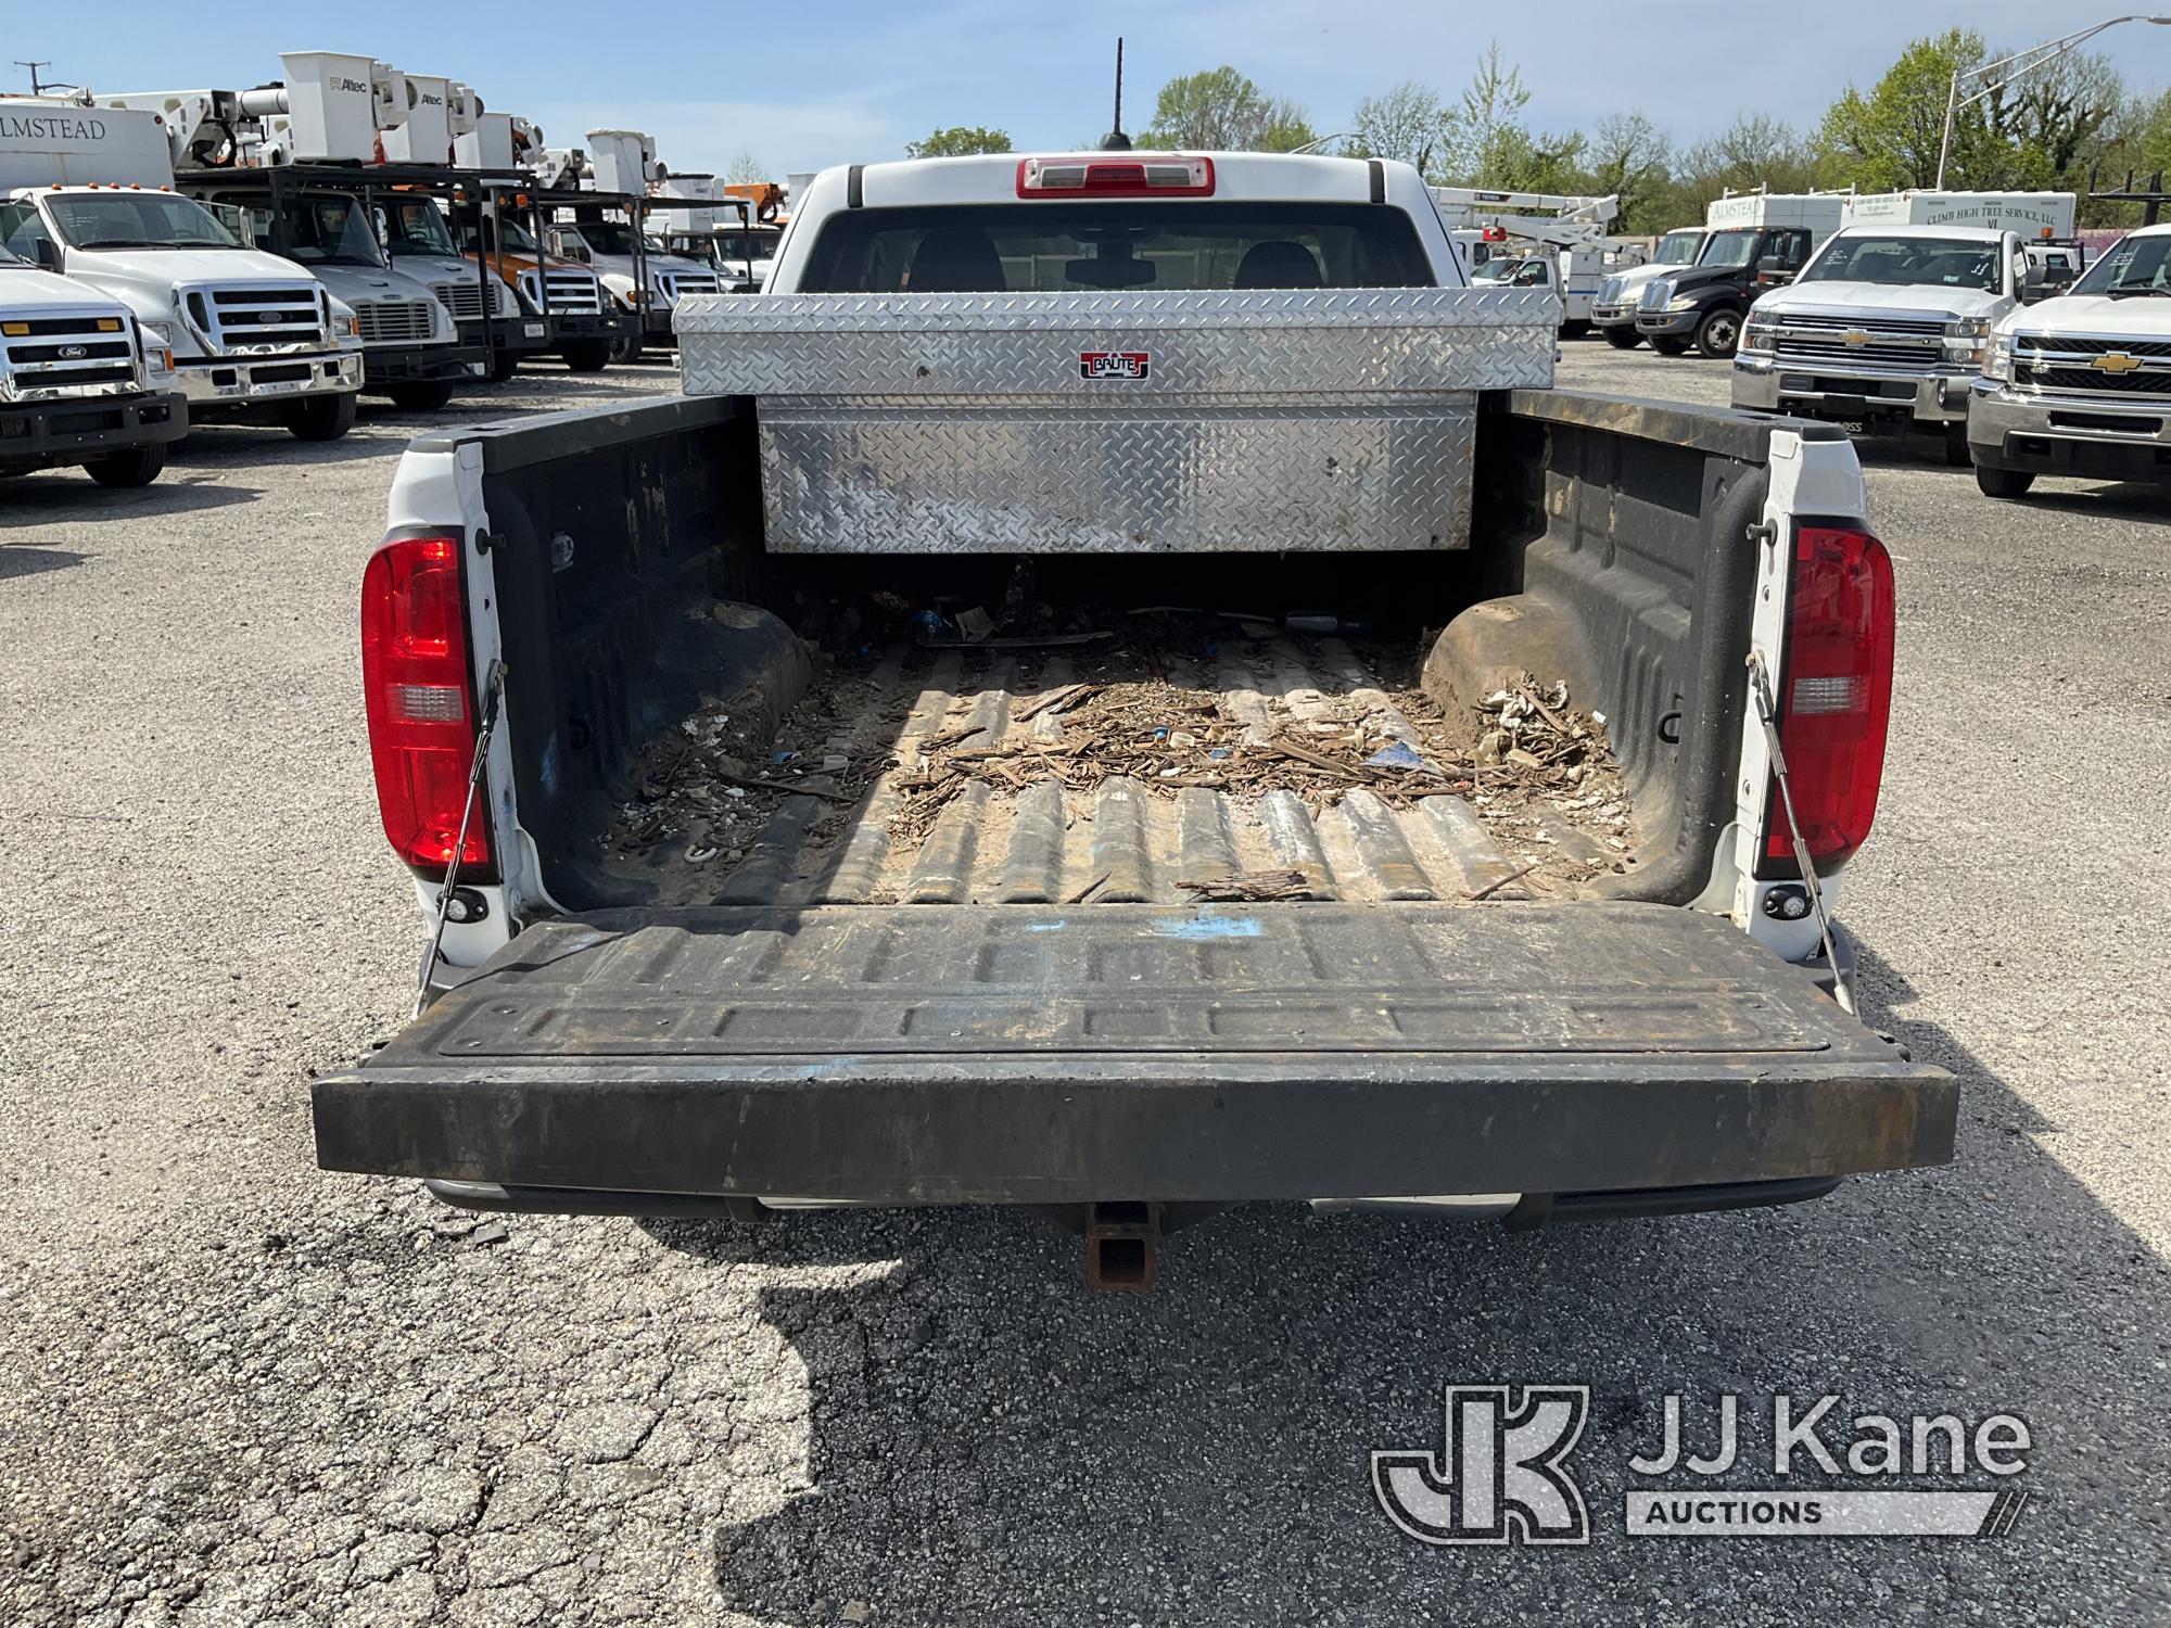
[(601, 371), (673, 343), (682, 295), (758, 287), (725, 234), (777, 230), (782, 189), (673, 176), (630, 130), (591, 163), (369, 56), (280, 69), (0, 98), (0, 473), (141, 484), (219, 419), (337, 438), (363, 393), (436, 410), (532, 356)]

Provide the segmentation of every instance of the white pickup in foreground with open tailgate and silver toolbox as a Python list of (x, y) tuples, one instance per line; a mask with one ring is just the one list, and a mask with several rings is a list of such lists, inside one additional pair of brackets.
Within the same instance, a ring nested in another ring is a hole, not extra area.
[(1952, 1157), (1821, 925), (1893, 656), (1841, 432), (1546, 389), (1554, 297), (1468, 289), (1407, 165), (797, 202), (766, 295), (680, 302), (688, 395), (399, 467), (363, 675), (434, 1003), (317, 1079), (326, 1168), (1040, 1205), (1138, 1285), (1244, 1200)]

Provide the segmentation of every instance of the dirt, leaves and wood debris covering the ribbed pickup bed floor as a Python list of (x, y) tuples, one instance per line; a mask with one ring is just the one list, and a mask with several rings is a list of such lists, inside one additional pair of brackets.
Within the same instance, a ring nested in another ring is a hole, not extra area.
[(1114, 616), (1046, 645), (810, 647), (777, 729), (703, 705), (606, 849), (666, 903), (1565, 899), (1633, 866), (1604, 721), (1524, 675), (1468, 716), (1422, 645)]

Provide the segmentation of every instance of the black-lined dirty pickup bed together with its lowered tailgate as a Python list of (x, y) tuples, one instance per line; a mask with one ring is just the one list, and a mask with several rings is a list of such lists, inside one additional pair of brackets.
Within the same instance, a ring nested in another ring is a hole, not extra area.
[[(1691, 907), (1774, 428), (1476, 417), (1470, 549), (1042, 556), (1027, 586), (766, 551), (747, 402), (426, 438), (488, 512), (521, 931), (317, 1081), (319, 1161), (649, 1213), (1700, 1209), (1950, 1159), (1947, 1074)], [(975, 608), (999, 627), (964, 640)], [(1578, 758), (1478, 762), (1502, 692)]]

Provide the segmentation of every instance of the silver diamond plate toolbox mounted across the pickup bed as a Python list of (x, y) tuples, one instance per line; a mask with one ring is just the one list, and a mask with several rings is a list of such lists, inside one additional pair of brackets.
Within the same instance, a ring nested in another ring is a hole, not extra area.
[(751, 395), (777, 554), (1470, 540), (1476, 393), (1552, 384), (1522, 289), (690, 295), (688, 395)]

